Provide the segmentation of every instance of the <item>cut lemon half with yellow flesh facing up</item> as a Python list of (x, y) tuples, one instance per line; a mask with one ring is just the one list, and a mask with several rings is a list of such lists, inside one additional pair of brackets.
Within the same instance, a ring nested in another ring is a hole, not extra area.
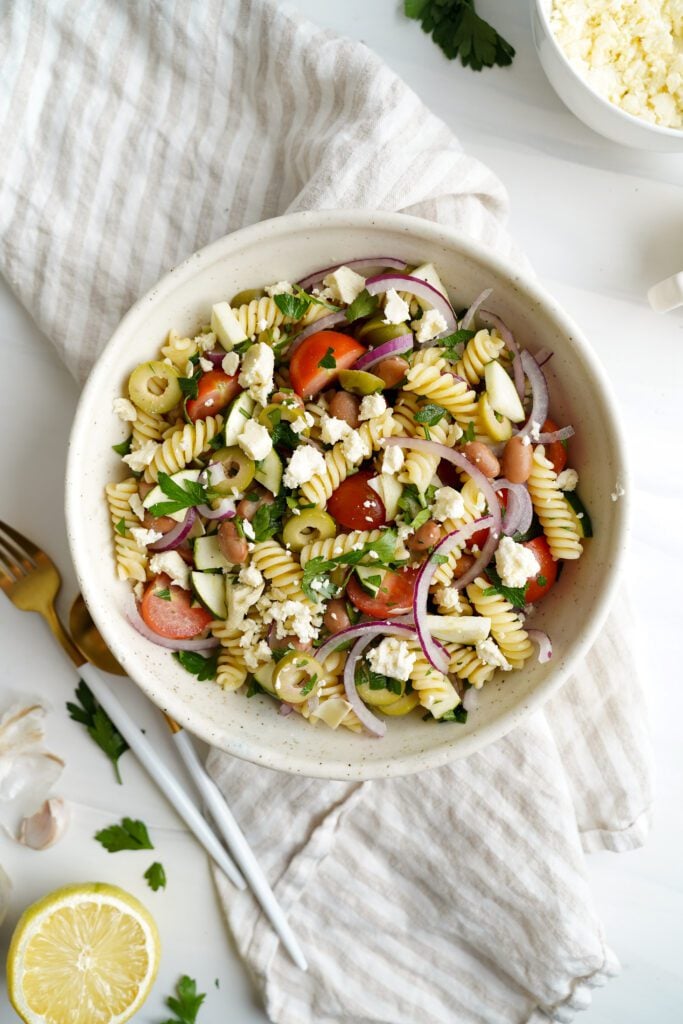
[(7, 986), (27, 1024), (123, 1024), (157, 976), (159, 932), (117, 886), (65, 886), (28, 907), (7, 955)]

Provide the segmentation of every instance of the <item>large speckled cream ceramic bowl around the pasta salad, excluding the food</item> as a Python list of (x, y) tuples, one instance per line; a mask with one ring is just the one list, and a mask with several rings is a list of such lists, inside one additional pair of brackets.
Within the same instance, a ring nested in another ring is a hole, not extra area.
[[(130, 371), (152, 356), (175, 327), (193, 332), (213, 302), (272, 281), (297, 281), (336, 260), (398, 255), (432, 260), (456, 307), (492, 287), (490, 306), (531, 351), (554, 351), (548, 364), (551, 413), (575, 425), (571, 464), (590, 509), (595, 539), (568, 563), (539, 607), (533, 625), (552, 636), (554, 656), (487, 684), (466, 725), (388, 721), (372, 739), (297, 716), (283, 718), (268, 697), (246, 699), (200, 683), (170, 654), (139, 636), (125, 618), (130, 587), (115, 574), (104, 484), (121, 477), (112, 444), (124, 428), (112, 412)], [(626, 541), (628, 483), (624, 444), (605, 374), (572, 321), (535, 282), (453, 230), (390, 213), (299, 213), (237, 231), (195, 253), (124, 317), (84, 388), (72, 430), (67, 519), (83, 595), (106, 643), (160, 708), (210, 743), (271, 768), (332, 778), (375, 778), (443, 765), (485, 746), (539, 709), (595, 640), (614, 591)], [(627, 499), (610, 500), (617, 481)]]

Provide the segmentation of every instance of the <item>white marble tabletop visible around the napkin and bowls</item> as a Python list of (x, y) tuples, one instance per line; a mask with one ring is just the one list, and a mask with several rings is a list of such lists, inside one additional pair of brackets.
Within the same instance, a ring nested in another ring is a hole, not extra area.
[[(680, 729), (683, 688), (680, 590), (683, 544), (677, 526), (683, 485), (677, 397), (683, 394), (683, 310), (650, 312), (645, 292), (683, 268), (683, 156), (620, 148), (584, 128), (548, 86), (532, 48), (527, 3), (480, 0), (517, 48), (509, 70), (480, 75), (449, 63), (398, 0), (298, 0), (306, 15), (361, 39), (380, 53), (501, 175), (510, 191), (512, 228), (541, 279), (575, 316), (613, 381), (633, 447), (637, 487), (629, 583), (643, 636), (657, 759), (654, 827), (645, 849), (589, 860), (589, 874), (623, 973), (595, 994), (586, 1024), (656, 1021), (683, 1015), (683, 822)], [(62, 609), (75, 595), (62, 506), (66, 441), (78, 388), (30, 317), (0, 283), (0, 353), (5, 443), (0, 517), (42, 543), (63, 569)], [(656, 595), (656, 596), (655, 596)], [(75, 676), (43, 625), (0, 600), (2, 706), (10, 696), (50, 701), (49, 745), (67, 757), (59, 791), (73, 806), (68, 837), (32, 853), (0, 836), (0, 863), (14, 893), (0, 931), (0, 954), (22, 908), (49, 889), (102, 879), (139, 895), (164, 943), (159, 981), (137, 1020), (164, 1020), (164, 995), (181, 973), (208, 992), (202, 1024), (266, 1020), (216, 907), (206, 858), (179, 826), (130, 755), (124, 786), (85, 732), (63, 712)], [(173, 751), (158, 714), (128, 682), (116, 682), (169, 763)], [(643, 711), (645, 714), (645, 710)], [(91, 839), (122, 814), (151, 826), (169, 878), (154, 894), (141, 874), (145, 854), (105, 853)], [(217, 985), (219, 987), (217, 987)], [(0, 993), (0, 1021), (16, 1020)]]

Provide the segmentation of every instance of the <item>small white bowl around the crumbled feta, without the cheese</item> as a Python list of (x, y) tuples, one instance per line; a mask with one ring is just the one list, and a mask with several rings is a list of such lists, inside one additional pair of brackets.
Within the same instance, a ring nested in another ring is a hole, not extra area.
[(610, 103), (579, 75), (550, 27), (553, 0), (531, 0), (531, 30), (550, 84), (572, 114), (589, 128), (638, 150), (683, 153), (683, 131), (652, 125)]

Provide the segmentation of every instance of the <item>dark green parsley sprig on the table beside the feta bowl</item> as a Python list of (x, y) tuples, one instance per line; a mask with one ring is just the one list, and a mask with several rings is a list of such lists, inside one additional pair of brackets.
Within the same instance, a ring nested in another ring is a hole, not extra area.
[(514, 47), (479, 17), (474, 0), (404, 0), (403, 10), (421, 23), (449, 60), (460, 56), (473, 71), (512, 63)]

